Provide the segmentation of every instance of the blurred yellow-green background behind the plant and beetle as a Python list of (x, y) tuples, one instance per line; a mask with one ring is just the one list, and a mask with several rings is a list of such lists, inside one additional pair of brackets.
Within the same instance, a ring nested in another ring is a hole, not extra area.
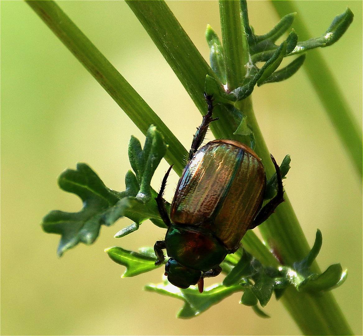
[[(167, 3), (208, 60), (204, 32), (209, 23), (220, 33), (218, 3)], [(189, 148), (200, 113), (126, 3), (58, 4)], [(269, 2), (248, 6), (257, 34), (277, 23)], [(297, 1), (297, 6), (314, 36), (347, 6), (354, 12), (342, 39), (320, 50), (361, 125), (362, 1)], [(160, 282), (160, 269), (120, 279), (124, 267), (104, 248), (153, 246), (165, 231), (150, 222), (114, 239), (131, 223), (119, 220), (102, 227), (92, 246), (81, 244), (57, 258), (59, 236), (45, 234), (41, 218), (52, 209), (81, 208), (76, 196), (58, 189), (57, 176), (87, 162), (106, 186), (124, 190), (130, 135), (142, 142), (144, 137), (26, 3), (1, 1), (1, 33), (1, 334), (300, 335), (275, 299), (265, 308), (270, 319), (257, 317), (234, 294), (199, 317), (178, 320), (181, 301), (143, 291), (144, 284)], [(310, 245), (316, 229), (322, 231), (319, 265), (325, 270), (340, 262), (348, 268), (346, 283), (334, 294), (361, 335), (362, 187), (355, 169), (303, 70), (256, 88), (253, 103), (271, 153), (277, 161), (291, 154), (285, 189)], [(155, 189), (166, 169), (163, 161)], [(177, 179), (174, 173), (168, 181), (168, 200)]]

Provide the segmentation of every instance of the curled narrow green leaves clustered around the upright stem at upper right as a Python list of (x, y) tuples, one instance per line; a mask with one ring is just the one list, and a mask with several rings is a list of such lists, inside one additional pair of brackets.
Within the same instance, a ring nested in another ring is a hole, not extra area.
[[(222, 84), (224, 85), (226, 83), (223, 46), (211, 26), (208, 25), (206, 32), (206, 38), (210, 48), (211, 68), (220, 81), (220, 83), (214, 83), (212, 85), (208, 82), (206, 84), (206, 92), (208, 94), (216, 93), (215, 88), (218, 87), (220, 96), (232, 102), (240, 101), (248, 97), (256, 84), (260, 86), (265, 83), (283, 81), (291, 77), (303, 64), (305, 55), (296, 58), (289, 65), (276, 71), (284, 57), (335, 43), (347, 30), (354, 16), (350, 9), (347, 9), (343, 14), (335, 17), (325, 34), (307, 41), (298, 42), (298, 35), (292, 29), (287, 39), (278, 46), (275, 44), (276, 40), (284, 35), (291, 27), (296, 13), (284, 16), (270, 32), (264, 35), (255, 35), (253, 28), (249, 25), (246, 1), (241, 1), (241, 10), (249, 46), (250, 63), (248, 64), (248, 71), (243, 85), (234, 89), (232, 92), (228, 92), (222, 86)], [(266, 63), (261, 69), (258, 69), (257, 62)]]

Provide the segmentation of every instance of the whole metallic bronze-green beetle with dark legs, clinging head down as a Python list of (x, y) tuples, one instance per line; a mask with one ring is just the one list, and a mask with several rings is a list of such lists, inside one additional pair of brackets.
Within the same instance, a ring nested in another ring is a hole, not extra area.
[(274, 157), (277, 194), (264, 207), (266, 173), (260, 158), (248, 146), (228, 139), (208, 142), (201, 147), (212, 118), (213, 98), (204, 93), (208, 112), (194, 135), (187, 165), (179, 179), (167, 214), (163, 193), (172, 166), (166, 172), (158, 197), (160, 216), (168, 227), (165, 239), (154, 245), (157, 261), (164, 262), (168, 281), (188, 288), (204, 278), (217, 276), (227, 254), (240, 247), (247, 230), (263, 223), (284, 201), (280, 168)]

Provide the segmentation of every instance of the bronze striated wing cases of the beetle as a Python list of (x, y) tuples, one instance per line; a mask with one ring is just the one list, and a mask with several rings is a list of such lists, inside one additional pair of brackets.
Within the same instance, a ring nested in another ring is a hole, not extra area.
[(233, 140), (208, 142), (184, 169), (171, 220), (211, 230), (232, 250), (260, 209), (265, 187), (265, 169), (252, 149)]

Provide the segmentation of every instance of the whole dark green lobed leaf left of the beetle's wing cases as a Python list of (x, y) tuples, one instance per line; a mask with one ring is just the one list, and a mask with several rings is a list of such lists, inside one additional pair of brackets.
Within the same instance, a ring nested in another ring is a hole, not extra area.
[(134, 221), (122, 235), (137, 230), (149, 218), (154, 224), (165, 227), (154, 199), (157, 193), (150, 187), (150, 181), (166, 149), (163, 136), (155, 126), (149, 127), (143, 150), (139, 140), (131, 137), (129, 158), (136, 175), (131, 170), (127, 172), (126, 190), (121, 193), (107, 188), (85, 163), (78, 163), (77, 170), (65, 170), (58, 184), (64, 191), (78, 195), (83, 208), (79, 212), (53, 210), (43, 218), (44, 231), (61, 235), (58, 255), (79, 242), (93, 243), (102, 224), (110, 226), (122, 216)]

